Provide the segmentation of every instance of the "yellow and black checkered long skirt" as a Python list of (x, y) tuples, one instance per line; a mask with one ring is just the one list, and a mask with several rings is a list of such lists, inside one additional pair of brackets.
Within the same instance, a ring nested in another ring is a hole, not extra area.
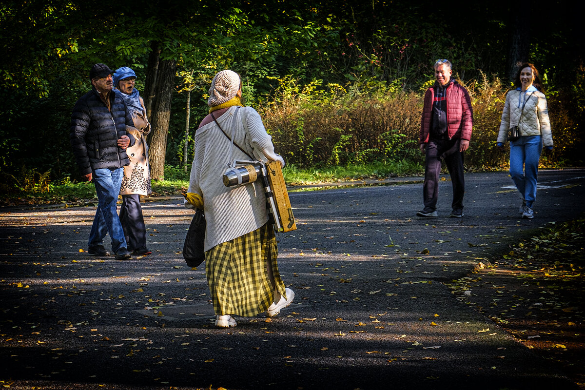
[[(205, 252), (205, 272), (215, 314), (253, 317), (284, 294), (278, 273), (278, 249), (272, 225), (266, 225)], [(276, 287), (270, 283), (272, 268)]]

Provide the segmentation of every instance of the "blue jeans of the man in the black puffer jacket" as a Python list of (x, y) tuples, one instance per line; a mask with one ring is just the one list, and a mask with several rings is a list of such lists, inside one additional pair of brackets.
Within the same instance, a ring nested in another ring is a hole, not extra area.
[(124, 168), (102, 168), (93, 172), (95, 192), (98, 194), (98, 209), (95, 211), (94, 223), (91, 226), (88, 241), (90, 247), (103, 245), (106, 233), (109, 233), (112, 239), (114, 253), (126, 247), (124, 231), (116, 208), (123, 173)]

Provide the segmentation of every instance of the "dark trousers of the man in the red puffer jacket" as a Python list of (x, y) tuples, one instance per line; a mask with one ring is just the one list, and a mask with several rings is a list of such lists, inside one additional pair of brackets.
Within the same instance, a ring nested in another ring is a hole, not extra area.
[(453, 184), (453, 210), (463, 212), (465, 179), (463, 177), (463, 153), (459, 151), (460, 140), (429, 140), (426, 144), (425, 184), (422, 187), (424, 212), (436, 210), (439, 196), (439, 174), (441, 160), (445, 160)]

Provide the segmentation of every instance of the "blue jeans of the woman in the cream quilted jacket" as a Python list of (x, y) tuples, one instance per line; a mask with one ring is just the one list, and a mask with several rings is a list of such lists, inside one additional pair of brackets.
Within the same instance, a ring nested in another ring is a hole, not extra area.
[(541, 158), (541, 136), (523, 136), (510, 142), (510, 175), (526, 206), (536, 199), (538, 160)]

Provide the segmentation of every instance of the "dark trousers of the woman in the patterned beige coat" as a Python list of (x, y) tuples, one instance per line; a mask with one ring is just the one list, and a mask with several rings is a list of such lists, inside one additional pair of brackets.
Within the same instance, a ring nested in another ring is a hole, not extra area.
[(142, 249), (146, 247), (146, 225), (140, 207), (140, 195), (122, 195), (120, 207), (120, 222), (128, 244), (128, 250)]

